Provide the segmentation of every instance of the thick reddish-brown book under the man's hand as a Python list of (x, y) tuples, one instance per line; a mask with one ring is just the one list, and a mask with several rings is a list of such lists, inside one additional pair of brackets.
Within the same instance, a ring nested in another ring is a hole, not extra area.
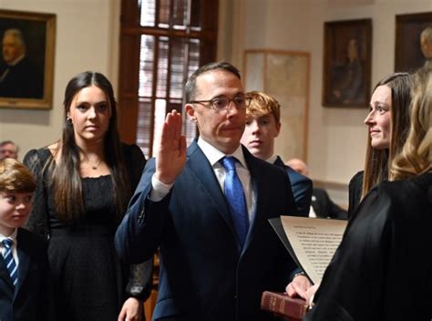
[(261, 297), (261, 308), (278, 316), (288, 316), (301, 320), (307, 312), (306, 301), (290, 297), (286, 293), (264, 291)]

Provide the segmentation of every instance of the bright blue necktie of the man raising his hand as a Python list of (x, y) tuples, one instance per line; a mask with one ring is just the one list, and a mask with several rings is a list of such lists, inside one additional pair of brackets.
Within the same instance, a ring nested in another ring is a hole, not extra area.
[(227, 171), (224, 184), (225, 197), (230, 206), (232, 221), (237, 232), (237, 238), (243, 247), (249, 230), (249, 217), (242, 181), (240, 181), (237, 171), (235, 171), (236, 161), (237, 160), (231, 156), (221, 159), (221, 163), (225, 168), (225, 171)]

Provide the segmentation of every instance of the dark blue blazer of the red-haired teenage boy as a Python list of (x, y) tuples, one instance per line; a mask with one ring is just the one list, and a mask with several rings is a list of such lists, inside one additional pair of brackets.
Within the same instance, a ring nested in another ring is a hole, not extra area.
[(307, 216), (311, 208), (312, 181), (298, 171), (294, 171), (291, 167), (286, 166), (279, 156), (273, 164), (283, 168), (288, 174), (297, 210), (300, 215)]

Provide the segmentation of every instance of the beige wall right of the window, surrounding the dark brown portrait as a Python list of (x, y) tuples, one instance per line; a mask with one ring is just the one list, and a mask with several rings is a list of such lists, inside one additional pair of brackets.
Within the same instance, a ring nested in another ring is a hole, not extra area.
[(364, 166), (366, 109), (324, 108), (324, 22), (372, 18), (372, 86), (393, 71), (395, 16), (432, 11), (430, 0), (244, 0), (244, 48), (311, 53), (308, 163), (315, 180), (346, 184)]

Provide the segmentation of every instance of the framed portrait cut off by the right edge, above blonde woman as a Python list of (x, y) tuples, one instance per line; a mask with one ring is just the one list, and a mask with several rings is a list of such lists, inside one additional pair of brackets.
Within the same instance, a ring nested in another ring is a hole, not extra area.
[[(432, 48), (428, 53), (421, 43), (421, 34), (428, 27), (432, 28), (432, 12), (396, 16), (395, 71), (413, 72), (425, 64), (427, 57), (432, 59)], [(429, 34), (432, 37), (432, 29)]]

